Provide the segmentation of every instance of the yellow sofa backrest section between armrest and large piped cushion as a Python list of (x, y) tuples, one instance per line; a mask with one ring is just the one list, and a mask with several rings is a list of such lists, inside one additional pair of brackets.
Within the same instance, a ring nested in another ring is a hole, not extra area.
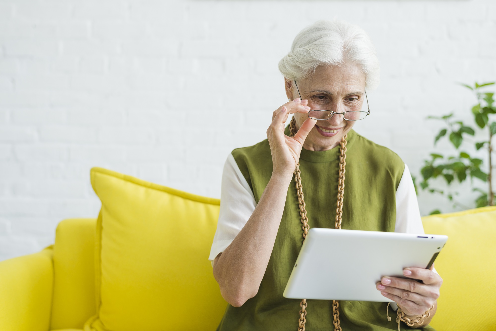
[(66, 219), (54, 245), (52, 329), (81, 329), (96, 313), (95, 218)]

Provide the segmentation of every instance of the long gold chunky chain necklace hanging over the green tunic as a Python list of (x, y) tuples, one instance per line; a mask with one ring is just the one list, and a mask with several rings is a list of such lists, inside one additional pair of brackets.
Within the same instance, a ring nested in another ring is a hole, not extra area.
[[(296, 120), (293, 117), (291, 122), (289, 123), (289, 134), (290, 136), (294, 136), (296, 134)], [(334, 223), (334, 227), (336, 229), (341, 229), (341, 216), (343, 215), (343, 198), (344, 198), (344, 179), (346, 172), (346, 137), (341, 138), (340, 147), (339, 147), (339, 179), (338, 179), (338, 199), (336, 202), (336, 222)], [(303, 241), (307, 238), (308, 231), (310, 230), (310, 225), (308, 223), (309, 219), (307, 217), (307, 209), (305, 208), (305, 199), (303, 197), (303, 186), (302, 186), (302, 177), (300, 172), (300, 162), (296, 164), (295, 168), (295, 182), (296, 182), (296, 193), (298, 195), (298, 207), (300, 208), (300, 216), (302, 221), (302, 229), (303, 229)], [(305, 323), (307, 322), (307, 308), (308, 303), (307, 299), (302, 299), (300, 302), (300, 319), (298, 321), (298, 331), (305, 331)], [(334, 331), (342, 331), (339, 321), (339, 301), (332, 300), (332, 324), (334, 325)]]

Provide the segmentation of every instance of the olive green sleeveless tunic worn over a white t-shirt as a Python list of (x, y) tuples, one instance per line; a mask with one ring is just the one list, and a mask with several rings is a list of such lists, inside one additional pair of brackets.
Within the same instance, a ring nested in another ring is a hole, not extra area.
[[(286, 128), (286, 134), (289, 134)], [(396, 189), (404, 163), (386, 147), (355, 131), (348, 133), (343, 229), (394, 231)], [(272, 157), (267, 140), (232, 152), (258, 203), (272, 175)], [(339, 169), (339, 146), (326, 151), (302, 150), (300, 169), (310, 227), (334, 228)], [(302, 224), (294, 180), (288, 188), (274, 249), (258, 293), (241, 307), (228, 305), (217, 331), (297, 330), (300, 301), (282, 296), (302, 247)], [(339, 254), (336, 247), (336, 254)], [(308, 300), (306, 329), (330, 331), (332, 301)], [(343, 331), (397, 330), (396, 313), (383, 302), (341, 301)], [(402, 330), (410, 330), (402, 323)], [(422, 330), (422, 329), (421, 329)], [(430, 327), (424, 330), (434, 330)]]

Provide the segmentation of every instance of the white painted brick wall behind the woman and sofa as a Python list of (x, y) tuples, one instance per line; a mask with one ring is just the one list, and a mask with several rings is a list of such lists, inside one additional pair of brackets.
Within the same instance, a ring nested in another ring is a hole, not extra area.
[(0, 260), (49, 245), (63, 218), (97, 216), (92, 166), (219, 197), (228, 153), (264, 139), (286, 101), (279, 59), (335, 16), (381, 62), (357, 131), (418, 175), (438, 130), (426, 116), (470, 119), (456, 82), (496, 79), (493, 0), (1, 0)]

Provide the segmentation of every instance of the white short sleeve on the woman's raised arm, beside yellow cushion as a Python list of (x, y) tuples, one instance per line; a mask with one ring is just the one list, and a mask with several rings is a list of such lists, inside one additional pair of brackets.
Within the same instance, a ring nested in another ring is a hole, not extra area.
[(219, 221), (208, 260), (233, 242), (247, 223), (256, 207), (255, 197), (232, 154), (229, 154), (222, 172)]

